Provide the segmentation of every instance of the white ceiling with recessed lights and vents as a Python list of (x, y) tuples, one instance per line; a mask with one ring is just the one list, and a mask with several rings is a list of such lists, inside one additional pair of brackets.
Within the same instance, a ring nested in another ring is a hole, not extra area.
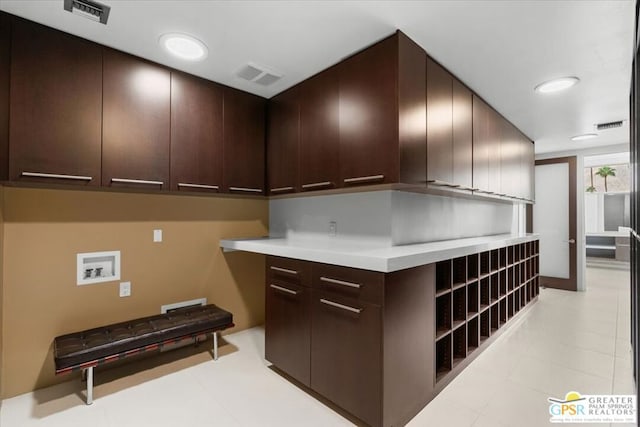
[[(628, 143), (628, 122), (572, 142), (594, 124), (628, 120), (634, 1), (123, 1), (106, 26), (63, 0), (0, 0), (0, 9), (152, 61), (271, 97), (400, 29), (536, 142), (536, 152)], [(166, 32), (204, 41), (201, 63), (158, 45)], [(235, 73), (247, 62), (284, 77), (263, 87)], [(567, 92), (538, 83), (578, 76)]]

